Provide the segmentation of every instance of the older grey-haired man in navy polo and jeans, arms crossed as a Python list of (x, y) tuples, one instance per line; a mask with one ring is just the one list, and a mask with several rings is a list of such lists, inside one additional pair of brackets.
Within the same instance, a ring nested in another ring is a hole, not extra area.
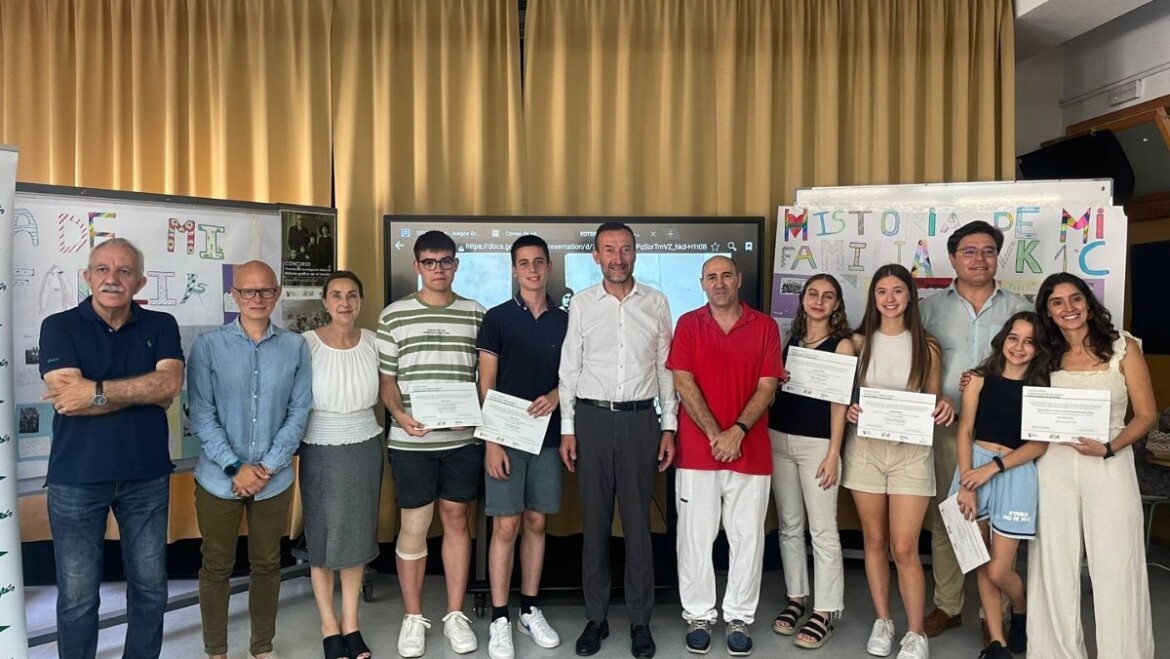
[(48, 504), (57, 568), (57, 653), (97, 652), (105, 520), (113, 510), (126, 575), (123, 657), (158, 657), (166, 610), (166, 513), (174, 465), (166, 409), (183, 387), (179, 325), (133, 302), (142, 252), (116, 238), (90, 252), (91, 295), (41, 324), (53, 404)]

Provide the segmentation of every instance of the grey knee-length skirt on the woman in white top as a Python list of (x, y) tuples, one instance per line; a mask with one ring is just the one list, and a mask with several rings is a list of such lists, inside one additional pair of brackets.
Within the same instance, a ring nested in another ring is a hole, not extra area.
[(340, 570), (378, 556), (380, 437), (342, 446), (301, 445), (301, 502), (309, 564)]

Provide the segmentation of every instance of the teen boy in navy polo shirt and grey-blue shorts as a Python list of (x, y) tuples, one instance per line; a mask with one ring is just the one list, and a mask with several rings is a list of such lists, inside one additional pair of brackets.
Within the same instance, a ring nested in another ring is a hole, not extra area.
[[(541, 453), (534, 455), (497, 444), (487, 445), (487, 514), (491, 515), (488, 567), (491, 581), (490, 659), (515, 657), (508, 619), (516, 534), (521, 544), (519, 623), (517, 629), (541, 647), (556, 647), (560, 637), (536, 606), (544, 567), (545, 515), (560, 509), (560, 400), (557, 370), (560, 344), (569, 330), (569, 314), (549, 297), (552, 262), (549, 246), (536, 235), (523, 235), (511, 246), (512, 275), (519, 284), (515, 297), (483, 316), (475, 346), (480, 350), (480, 396), (488, 390), (531, 400), (534, 417), (551, 414)], [(523, 523), (521, 522), (523, 517)]]

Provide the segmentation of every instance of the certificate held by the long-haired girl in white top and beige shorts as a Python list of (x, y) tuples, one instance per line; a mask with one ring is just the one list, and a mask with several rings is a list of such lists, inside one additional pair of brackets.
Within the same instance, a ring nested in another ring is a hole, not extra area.
[(858, 435), (930, 446), (935, 441), (935, 394), (861, 387)]

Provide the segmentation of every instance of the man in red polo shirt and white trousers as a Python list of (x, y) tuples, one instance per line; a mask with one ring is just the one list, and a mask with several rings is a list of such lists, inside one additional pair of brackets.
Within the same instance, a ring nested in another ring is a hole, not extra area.
[(666, 368), (682, 403), (675, 493), (679, 508), (679, 599), (687, 650), (711, 644), (720, 519), (731, 547), (723, 619), (727, 648), (751, 654), (748, 632), (759, 600), (764, 515), (772, 451), (768, 409), (784, 377), (776, 322), (739, 301), (743, 276), (727, 256), (703, 263), (708, 303), (679, 318)]

